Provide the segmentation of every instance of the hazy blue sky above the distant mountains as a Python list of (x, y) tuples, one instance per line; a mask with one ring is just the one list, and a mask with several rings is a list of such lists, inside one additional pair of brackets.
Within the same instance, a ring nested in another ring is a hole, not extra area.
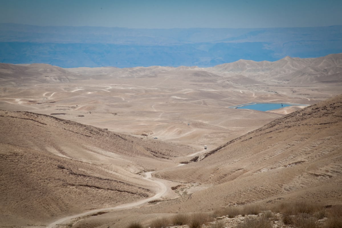
[(0, 23), (128, 28), (342, 25), (342, 0), (0, 0)]

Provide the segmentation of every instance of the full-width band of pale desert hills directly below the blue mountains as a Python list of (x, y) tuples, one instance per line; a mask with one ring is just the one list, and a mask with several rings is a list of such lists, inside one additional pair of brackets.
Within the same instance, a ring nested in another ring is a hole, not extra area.
[[(278, 61), (255, 62), (239, 60), (214, 67), (134, 67), (134, 68), (61, 68), (48, 64), (4, 64), (0, 63), (2, 85), (26, 83), (69, 83), (94, 78), (139, 78), (160, 77), (160, 74), (188, 72), (190, 80), (206, 78), (218, 84), (251, 85), (261, 83), (312, 84), (342, 83), (342, 53), (319, 58), (291, 58)], [(183, 76), (185, 77), (185, 76)], [(185, 81), (186, 78), (183, 78)]]

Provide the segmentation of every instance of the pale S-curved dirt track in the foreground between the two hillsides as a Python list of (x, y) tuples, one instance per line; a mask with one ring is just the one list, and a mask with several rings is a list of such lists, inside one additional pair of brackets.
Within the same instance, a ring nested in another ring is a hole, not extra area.
[(71, 222), (72, 219), (75, 219), (75, 218), (78, 218), (78, 217), (83, 217), (83, 216), (86, 216), (86, 215), (94, 214), (94, 213), (101, 212), (101, 211), (107, 211), (107, 210), (127, 209), (127, 208), (131, 208), (131, 207), (134, 207), (134, 206), (139, 206), (139, 205), (144, 204), (144, 203), (146, 203), (148, 201), (160, 198), (161, 196), (163, 196), (167, 192), (167, 186), (164, 183), (160, 182), (157, 178), (153, 178), (152, 179), (152, 173), (153, 172), (146, 172), (145, 173), (146, 177), (143, 177), (143, 178), (145, 180), (147, 180), (149, 182), (152, 182), (152, 183), (154, 183), (154, 184), (156, 184), (158, 186), (158, 191), (157, 191), (155, 196), (147, 198), (147, 199), (144, 199), (144, 200), (139, 200), (137, 202), (121, 204), (121, 205), (118, 205), (118, 206), (115, 206), (115, 207), (96, 209), (96, 210), (84, 212), (84, 213), (81, 213), (81, 214), (71, 215), (71, 216), (68, 216), (68, 217), (64, 217), (64, 218), (58, 219), (57, 221), (49, 224), (47, 226), (47, 228), (56, 228), (56, 227), (59, 227), (60, 225), (64, 227), (65, 224)]

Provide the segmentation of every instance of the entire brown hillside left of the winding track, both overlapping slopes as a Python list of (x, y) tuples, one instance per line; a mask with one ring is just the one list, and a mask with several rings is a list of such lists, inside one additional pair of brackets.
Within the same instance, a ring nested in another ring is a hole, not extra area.
[(32, 112), (0, 110), (0, 124), (1, 225), (154, 196), (139, 173), (191, 151)]

